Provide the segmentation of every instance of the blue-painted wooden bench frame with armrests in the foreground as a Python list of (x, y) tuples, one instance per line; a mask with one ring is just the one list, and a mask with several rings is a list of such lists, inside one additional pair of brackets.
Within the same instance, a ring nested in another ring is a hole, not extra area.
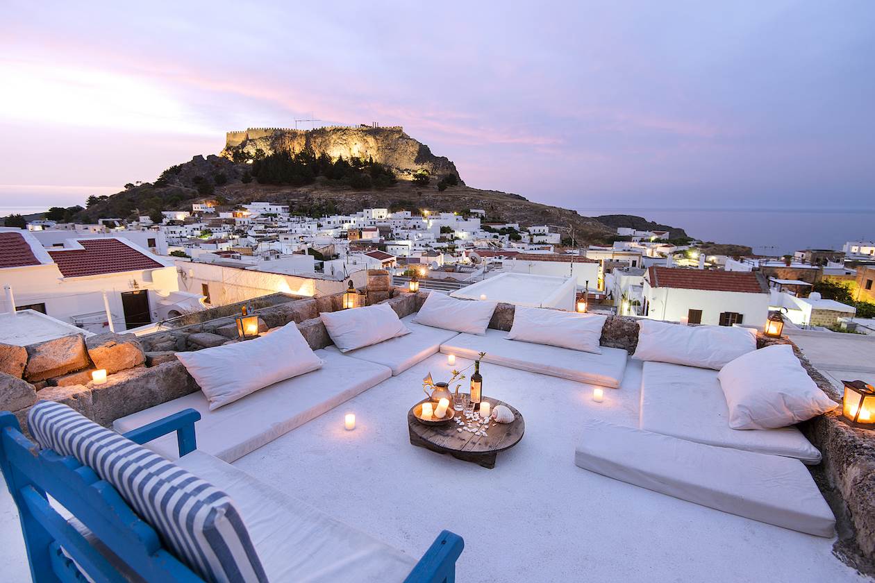
[[(187, 409), (125, 434), (144, 444), (165, 434), (177, 434), (179, 455), (197, 448), (194, 423), (200, 413)], [(130, 573), (156, 583), (201, 581), (168, 552), (158, 534), (130, 509), (122, 496), (95, 471), (72, 456), (61, 456), (21, 433), (15, 415), (0, 413), (0, 469), (24, 533), (27, 559), (35, 583), (84, 583), (83, 572), (97, 583), (125, 581), (125, 575), (48, 502), (52, 496), (94, 537), (121, 559)], [(465, 547), (461, 537), (443, 531), (405, 583), (453, 583), (456, 560)]]

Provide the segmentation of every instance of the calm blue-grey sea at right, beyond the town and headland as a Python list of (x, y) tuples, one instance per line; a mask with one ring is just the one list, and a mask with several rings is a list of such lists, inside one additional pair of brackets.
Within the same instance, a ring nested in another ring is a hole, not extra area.
[(798, 249), (841, 249), (850, 240), (875, 240), (875, 209), (575, 209), (586, 217), (630, 214), (682, 228), (690, 237), (783, 255)]

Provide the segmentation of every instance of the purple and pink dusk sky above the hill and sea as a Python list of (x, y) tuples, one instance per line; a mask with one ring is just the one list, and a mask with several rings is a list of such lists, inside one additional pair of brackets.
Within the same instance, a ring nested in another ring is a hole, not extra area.
[(570, 208), (875, 208), (871, 0), (274, 4), (6, 0), (0, 206), (313, 115)]

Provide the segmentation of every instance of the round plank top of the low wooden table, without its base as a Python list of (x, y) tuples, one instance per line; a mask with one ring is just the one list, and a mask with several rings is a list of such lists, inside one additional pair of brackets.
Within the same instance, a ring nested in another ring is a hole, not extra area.
[[(423, 399), (420, 403), (430, 399)], [(508, 448), (513, 448), (522, 439), (522, 434), (526, 430), (526, 423), (522, 419), (519, 411), (513, 406), (507, 405), (499, 399), (483, 397), (483, 400), (489, 401), (493, 406), (506, 406), (514, 413), (514, 421), (511, 423), (496, 423), (494, 420), (486, 427), (486, 437), (483, 435), (473, 434), (471, 432), (458, 431), (461, 427), (455, 421), (447, 421), (443, 425), (424, 425), (416, 420), (413, 414), (415, 406), (410, 407), (407, 413), (407, 424), (411, 434), (416, 434), (424, 441), (428, 441), (431, 445), (440, 448), (446, 452), (465, 452), (469, 454), (486, 454), (504, 451)], [(459, 419), (465, 421), (465, 412), (455, 412)], [(493, 427), (493, 425), (495, 427)]]

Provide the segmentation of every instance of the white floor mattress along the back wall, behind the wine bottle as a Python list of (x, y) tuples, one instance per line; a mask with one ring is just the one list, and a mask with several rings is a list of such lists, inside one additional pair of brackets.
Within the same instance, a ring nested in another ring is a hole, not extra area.
[(628, 353), (619, 348), (601, 347), (601, 354), (570, 350), (547, 344), (507, 340), (507, 332), (486, 330), (485, 336), (459, 334), (440, 347), (445, 354), (476, 358), (521, 371), (540, 372), (551, 377), (618, 388), (626, 371)]

